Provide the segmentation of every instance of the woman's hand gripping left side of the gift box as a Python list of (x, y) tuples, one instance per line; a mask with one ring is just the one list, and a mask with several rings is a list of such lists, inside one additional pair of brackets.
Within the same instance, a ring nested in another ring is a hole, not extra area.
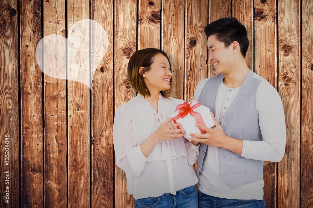
[[(186, 133), (184, 133), (185, 129), (172, 129), (174, 127), (182, 125), (181, 123), (168, 124), (173, 119), (173, 117), (167, 119), (164, 123), (159, 126), (158, 129), (154, 132), (156, 139), (161, 142), (170, 139), (177, 139), (183, 137)], [(182, 132), (182, 133), (179, 133)]]

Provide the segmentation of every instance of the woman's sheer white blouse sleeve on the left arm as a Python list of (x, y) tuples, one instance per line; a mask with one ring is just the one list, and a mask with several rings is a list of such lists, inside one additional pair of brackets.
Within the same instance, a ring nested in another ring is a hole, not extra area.
[(126, 174), (140, 176), (147, 157), (141, 152), (140, 144), (137, 144), (132, 130), (131, 116), (127, 110), (121, 110), (121, 106), (116, 112), (123, 112), (121, 115), (115, 114), (113, 123), (113, 144), (116, 158), (116, 165)]

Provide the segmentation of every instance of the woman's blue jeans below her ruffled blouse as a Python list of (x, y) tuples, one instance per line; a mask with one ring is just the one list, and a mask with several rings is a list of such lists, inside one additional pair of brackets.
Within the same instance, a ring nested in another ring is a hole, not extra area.
[(198, 194), (196, 186), (189, 186), (187, 188), (176, 191), (176, 195), (171, 193), (163, 194), (158, 197), (148, 197), (137, 199), (135, 201), (135, 208), (198, 208)]

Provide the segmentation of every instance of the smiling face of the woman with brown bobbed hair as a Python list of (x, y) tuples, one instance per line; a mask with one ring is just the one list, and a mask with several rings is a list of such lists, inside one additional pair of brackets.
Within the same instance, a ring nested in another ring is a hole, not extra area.
[(161, 53), (156, 54), (150, 67), (151, 69), (142, 75), (149, 91), (170, 89), (172, 71), (167, 58)]

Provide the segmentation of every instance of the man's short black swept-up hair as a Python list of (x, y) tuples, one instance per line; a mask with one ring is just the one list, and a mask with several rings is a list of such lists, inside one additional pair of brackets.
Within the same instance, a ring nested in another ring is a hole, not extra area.
[(242, 56), (246, 57), (249, 47), (247, 30), (235, 17), (224, 17), (211, 22), (204, 27), (204, 33), (207, 37), (216, 35), (216, 39), (223, 42), (225, 47), (237, 41)]

